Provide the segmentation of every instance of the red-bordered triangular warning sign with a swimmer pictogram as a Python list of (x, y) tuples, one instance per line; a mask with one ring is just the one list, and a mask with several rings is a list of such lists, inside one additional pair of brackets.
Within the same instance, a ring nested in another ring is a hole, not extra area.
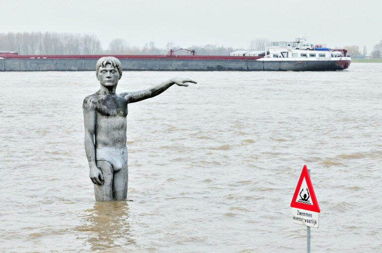
[(300, 179), (298, 180), (296, 190), (294, 190), (290, 207), (300, 208), (312, 212), (320, 212), (320, 207), (318, 206), (306, 165), (302, 168)]

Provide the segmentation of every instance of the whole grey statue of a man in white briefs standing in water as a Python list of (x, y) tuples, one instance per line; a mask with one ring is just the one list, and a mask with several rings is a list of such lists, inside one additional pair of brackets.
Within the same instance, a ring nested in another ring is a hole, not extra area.
[(85, 151), (95, 200), (110, 201), (127, 197), (127, 104), (152, 98), (173, 84), (196, 83), (187, 78), (164, 81), (147, 90), (115, 93), (122, 66), (114, 57), (102, 57), (96, 64), (100, 88), (84, 99)]

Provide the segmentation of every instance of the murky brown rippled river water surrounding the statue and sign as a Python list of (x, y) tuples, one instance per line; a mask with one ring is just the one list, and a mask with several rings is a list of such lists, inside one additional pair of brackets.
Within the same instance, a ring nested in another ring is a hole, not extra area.
[(95, 72), (0, 73), (0, 252), (304, 252), (290, 201), (304, 164), (312, 252), (382, 249), (382, 64), (332, 72), (123, 72), (129, 201), (95, 202), (82, 102)]

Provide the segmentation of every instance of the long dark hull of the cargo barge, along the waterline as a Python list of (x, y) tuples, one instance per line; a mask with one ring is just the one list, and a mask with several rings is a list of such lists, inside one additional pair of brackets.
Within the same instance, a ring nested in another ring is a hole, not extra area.
[[(124, 59), (123, 70), (156, 71), (330, 71), (349, 67), (350, 60), (266, 61), (263, 59)], [(284, 60), (284, 59), (283, 59)], [(95, 70), (95, 58), (0, 59), (0, 71)]]

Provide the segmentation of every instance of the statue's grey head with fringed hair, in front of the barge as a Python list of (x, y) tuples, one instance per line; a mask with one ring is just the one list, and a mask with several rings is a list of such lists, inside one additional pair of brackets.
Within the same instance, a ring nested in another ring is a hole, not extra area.
[(122, 77), (122, 65), (115, 57), (102, 57), (95, 66), (95, 75), (102, 86), (114, 86)]

